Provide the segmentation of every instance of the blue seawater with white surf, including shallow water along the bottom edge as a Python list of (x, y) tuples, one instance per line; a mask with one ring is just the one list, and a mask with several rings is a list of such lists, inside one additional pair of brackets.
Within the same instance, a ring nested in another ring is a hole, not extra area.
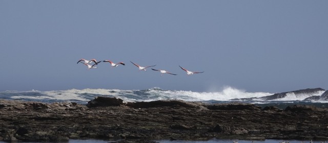
[[(263, 97), (272, 96), (274, 93), (269, 92), (245, 92), (243, 90), (232, 87), (224, 88), (218, 92), (195, 92), (183, 90), (164, 90), (161, 88), (150, 88), (143, 90), (119, 90), (119, 89), (69, 89), (59, 91), (0, 91), (0, 99), (6, 100), (22, 100), (22, 101), (37, 101), (43, 103), (54, 102), (75, 102), (78, 104), (87, 104), (88, 101), (95, 97), (115, 97), (124, 100), (124, 102), (149, 102), (156, 100), (183, 100), (189, 102), (203, 102), (206, 104), (215, 103), (251, 103), (264, 108), (265, 106), (276, 106), (280, 109), (285, 109), (289, 105), (302, 104), (314, 105), (316, 107), (327, 108), (327, 100), (306, 100), (304, 99), (321, 96), (325, 91), (319, 90), (314, 92), (286, 92), (284, 97), (277, 97), (272, 100), (265, 100)], [(278, 143), (283, 140), (257, 140), (254, 142)], [(1, 142), (1, 141), (0, 141)], [(70, 140), (69, 142), (108, 142), (108, 140)], [(209, 141), (170, 141), (158, 140), (162, 143), (173, 142), (223, 142), (232, 143), (233, 140), (213, 139)], [(239, 140), (239, 143), (251, 143), (250, 140)], [(301, 142), (300, 140), (291, 140), (289, 142)], [(303, 141), (304, 143), (310, 140)], [(315, 142), (315, 141), (314, 141)], [(320, 142), (320, 141), (317, 141)]]

